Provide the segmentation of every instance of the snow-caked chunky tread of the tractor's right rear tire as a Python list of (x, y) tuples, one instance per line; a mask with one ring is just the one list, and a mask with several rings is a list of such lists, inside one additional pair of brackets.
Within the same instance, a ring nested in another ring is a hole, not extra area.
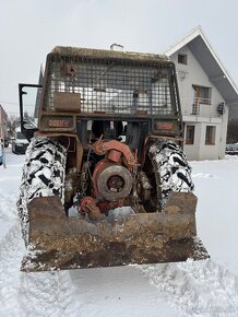
[(186, 154), (174, 141), (156, 141), (150, 148), (148, 157), (157, 178), (155, 183), (160, 196), (160, 209), (165, 207), (169, 192), (189, 192), (194, 189)]

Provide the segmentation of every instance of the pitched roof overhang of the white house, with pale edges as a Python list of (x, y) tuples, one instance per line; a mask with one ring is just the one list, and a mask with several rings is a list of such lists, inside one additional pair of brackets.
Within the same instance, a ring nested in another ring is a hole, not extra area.
[(183, 46), (189, 47), (206, 72), (210, 81), (217, 87), (224, 97), (226, 104), (238, 104), (238, 87), (218, 59), (201, 26), (195, 27), (187, 36), (180, 38), (176, 44), (170, 46), (165, 54), (170, 57)]

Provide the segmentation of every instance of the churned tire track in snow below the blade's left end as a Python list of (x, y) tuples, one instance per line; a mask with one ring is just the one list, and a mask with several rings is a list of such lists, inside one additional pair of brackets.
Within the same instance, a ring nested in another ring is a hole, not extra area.
[(68, 271), (22, 273), (21, 286), (25, 316), (79, 316), (80, 306)]

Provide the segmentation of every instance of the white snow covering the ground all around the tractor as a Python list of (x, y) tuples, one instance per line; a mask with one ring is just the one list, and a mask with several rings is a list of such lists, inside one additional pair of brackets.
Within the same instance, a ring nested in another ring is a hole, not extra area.
[(20, 272), (16, 200), (24, 155), (0, 167), (0, 316), (238, 316), (238, 157), (191, 162), (198, 232), (211, 259)]

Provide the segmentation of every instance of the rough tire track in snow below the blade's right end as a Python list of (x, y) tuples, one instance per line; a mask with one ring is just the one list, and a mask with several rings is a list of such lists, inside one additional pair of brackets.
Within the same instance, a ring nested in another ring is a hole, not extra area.
[(238, 316), (238, 278), (210, 259), (141, 269), (171, 306), (188, 316)]

